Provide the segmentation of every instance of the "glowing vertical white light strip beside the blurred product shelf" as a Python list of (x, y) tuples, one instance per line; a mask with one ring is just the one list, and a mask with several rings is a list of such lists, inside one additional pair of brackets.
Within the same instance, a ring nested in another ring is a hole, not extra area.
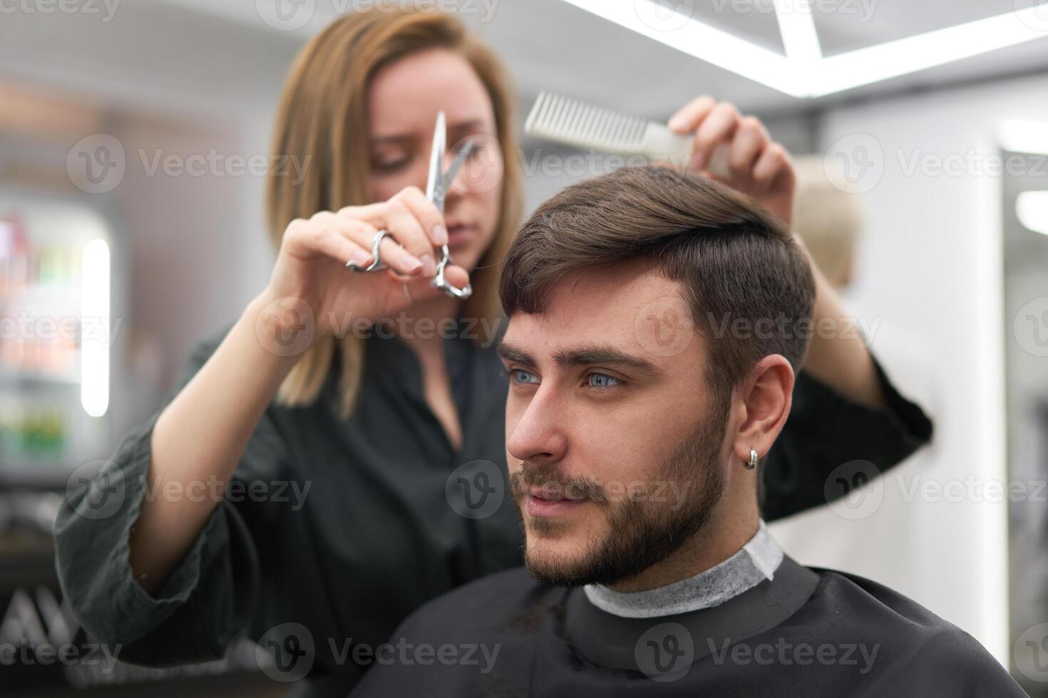
[(80, 403), (91, 416), (109, 408), (109, 245), (84, 247), (81, 275)]

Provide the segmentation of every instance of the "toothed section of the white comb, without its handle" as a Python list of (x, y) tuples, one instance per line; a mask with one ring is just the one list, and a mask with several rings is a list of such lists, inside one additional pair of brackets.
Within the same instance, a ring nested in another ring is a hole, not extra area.
[(524, 125), (538, 138), (633, 153), (642, 149), (648, 121), (550, 92), (539, 95)]

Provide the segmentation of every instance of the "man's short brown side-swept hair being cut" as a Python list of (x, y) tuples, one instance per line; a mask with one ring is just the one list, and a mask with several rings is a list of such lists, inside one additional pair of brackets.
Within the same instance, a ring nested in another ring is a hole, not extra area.
[(770, 354), (800, 369), (815, 295), (804, 251), (748, 197), (670, 167), (621, 167), (543, 203), (506, 255), (502, 307), (541, 313), (566, 274), (640, 260), (681, 284), (719, 398)]

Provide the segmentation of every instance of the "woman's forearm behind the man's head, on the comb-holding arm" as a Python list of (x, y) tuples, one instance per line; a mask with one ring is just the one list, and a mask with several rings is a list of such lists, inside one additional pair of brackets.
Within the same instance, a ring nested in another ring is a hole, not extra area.
[(882, 406), (885, 396), (873, 357), (854, 318), (845, 313), (836, 291), (818, 267), (812, 264), (811, 270), (815, 277), (815, 306), (804, 369), (857, 403)]

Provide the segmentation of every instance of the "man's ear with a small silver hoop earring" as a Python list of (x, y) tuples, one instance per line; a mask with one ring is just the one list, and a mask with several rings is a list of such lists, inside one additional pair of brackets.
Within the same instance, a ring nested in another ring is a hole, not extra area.
[(771, 354), (754, 366), (739, 393), (742, 399), (742, 422), (733, 444), (733, 451), (743, 463), (749, 460), (749, 449), (763, 458), (774, 443), (793, 399), (793, 368), (780, 354)]

